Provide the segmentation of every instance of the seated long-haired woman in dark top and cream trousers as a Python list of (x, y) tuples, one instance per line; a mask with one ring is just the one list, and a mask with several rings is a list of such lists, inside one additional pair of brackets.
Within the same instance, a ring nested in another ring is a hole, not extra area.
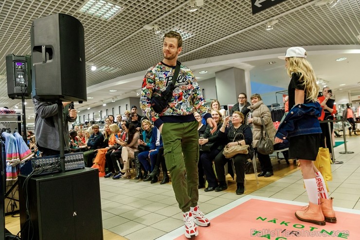
[[(127, 143), (121, 149), (121, 159), (124, 163), (125, 174), (122, 178), (131, 178), (130, 162), (129, 160), (134, 158), (134, 153), (138, 150), (138, 140), (140, 139), (140, 133), (135, 128), (133, 123), (129, 123), (129, 129), (127, 132)], [(119, 143), (119, 142), (117, 142)]]

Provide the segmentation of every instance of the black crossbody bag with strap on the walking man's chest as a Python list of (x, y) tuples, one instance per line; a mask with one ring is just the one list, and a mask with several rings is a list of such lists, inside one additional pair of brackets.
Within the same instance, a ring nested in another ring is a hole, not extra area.
[(159, 90), (154, 90), (151, 100), (150, 100), (150, 104), (151, 104), (152, 109), (155, 112), (160, 113), (168, 106), (168, 103), (170, 102), (170, 99), (173, 95), (173, 91), (175, 88), (175, 82), (178, 79), (178, 75), (180, 72), (180, 65), (181, 65), (181, 63), (179, 61), (176, 61), (176, 67), (175, 67), (175, 73), (173, 75), (173, 80), (169, 85), (167, 85), (164, 92), (161, 92)]

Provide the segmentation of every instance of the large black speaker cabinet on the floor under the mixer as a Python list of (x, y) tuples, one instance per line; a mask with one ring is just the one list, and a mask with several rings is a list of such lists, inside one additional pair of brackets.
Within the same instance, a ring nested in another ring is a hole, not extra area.
[(103, 240), (96, 169), (26, 178), (18, 178), (22, 240)]

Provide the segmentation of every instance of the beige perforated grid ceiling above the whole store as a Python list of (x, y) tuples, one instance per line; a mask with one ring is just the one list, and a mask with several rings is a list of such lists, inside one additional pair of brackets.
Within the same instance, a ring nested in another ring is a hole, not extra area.
[[(145, 30), (157, 24), (162, 33), (180, 28), (192, 34), (184, 40), (180, 61), (254, 50), (307, 45), (359, 44), (360, 1), (342, 0), (336, 7), (314, 0), (286, 0), (252, 15), (251, 0), (204, 0), (188, 12), (189, 0), (111, 0), (124, 7), (110, 20), (80, 13), (84, 0), (0, 1), (0, 84), (6, 85), (5, 56), (31, 53), (30, 28), (36, 18), (64, 13), (85, 28), (87, 86), (146, 71), (162, 59), (162, 34)], [(265, 30), (268, 20), (279, 22)], [(205, 47), (203, 47), (205, 46)], [(90, 70), (90, 64), (97, 66)], [(3, 105), (14, 105), (0, 88)]]

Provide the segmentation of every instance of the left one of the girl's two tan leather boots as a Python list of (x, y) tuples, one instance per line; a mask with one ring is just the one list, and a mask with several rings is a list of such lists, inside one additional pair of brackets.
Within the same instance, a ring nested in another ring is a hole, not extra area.
[(303, 222), (311, 222), (317, 225), (325, 225), (325, 218), (321, 210), (321, 205), (309, 203), (305, 210), (295, 212), (295, 217)]

